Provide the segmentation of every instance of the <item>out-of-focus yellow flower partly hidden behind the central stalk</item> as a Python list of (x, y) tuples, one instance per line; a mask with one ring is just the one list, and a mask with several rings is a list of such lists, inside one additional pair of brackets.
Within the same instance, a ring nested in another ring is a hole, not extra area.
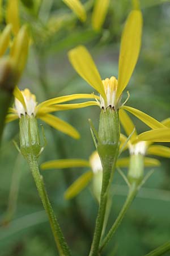
[[(121, 158), (117, 160), (117, 167), (129, 167), (130, 158)], [(157, 159), (145, 158), (145, 166), (159, 166), (160, 162)], [(90, 170), (84, 172), (67, 188), (65, 199), (69, 200), (78, 195), (92, 180), (92, 188), (94, 195), (100, 201), (101, 182), (103, 168), (97, 151), (94, 151), (89, 160), (84, 159), (59, 159), (51, 160), (41, 164), (41, 169), (63, 169), (63, 168), (78, 168), (88, 167)]]

